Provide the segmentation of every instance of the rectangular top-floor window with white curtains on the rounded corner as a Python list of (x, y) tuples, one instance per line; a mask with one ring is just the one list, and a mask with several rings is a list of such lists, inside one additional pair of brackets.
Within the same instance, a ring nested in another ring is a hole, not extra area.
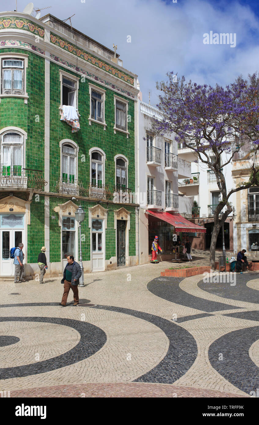
[(2, 59), (1, 94), (24, 94), (23, 59)]

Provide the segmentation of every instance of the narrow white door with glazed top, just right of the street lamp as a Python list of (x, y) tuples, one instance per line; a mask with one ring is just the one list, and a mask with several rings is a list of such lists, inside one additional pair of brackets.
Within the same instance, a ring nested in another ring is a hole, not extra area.
[(103, 220), (92, 218), (92, 271), (101, 272), (104, 270), (105, 260), (105, 232), (103, 230)]

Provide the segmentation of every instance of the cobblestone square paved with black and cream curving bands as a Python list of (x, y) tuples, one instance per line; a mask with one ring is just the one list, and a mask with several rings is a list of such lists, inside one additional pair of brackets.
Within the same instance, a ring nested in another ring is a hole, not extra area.
[(234, 274), (234, 284), (222, 274), (218, 283), (161, 277), (170, 264), (85, 275), (76, 307), (72, 292), (59, 305), (60, 279), (0, 283), (0, 391), (250, 397), (259, 388), (259, 274)]

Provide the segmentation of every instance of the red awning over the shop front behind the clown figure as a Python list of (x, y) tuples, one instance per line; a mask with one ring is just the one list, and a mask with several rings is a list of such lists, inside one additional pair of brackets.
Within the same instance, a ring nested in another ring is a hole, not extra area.
[(198, 226), (198, 224), (191, 223), (180, 214), (170, 214), (169, 212), (154, 212), (148, 210), (148, 214), (154, 215), (159, 220), (166, 221), (175, 227), (176, 232), (191, 232), (191, 233), (205, 233), (206, 228)]

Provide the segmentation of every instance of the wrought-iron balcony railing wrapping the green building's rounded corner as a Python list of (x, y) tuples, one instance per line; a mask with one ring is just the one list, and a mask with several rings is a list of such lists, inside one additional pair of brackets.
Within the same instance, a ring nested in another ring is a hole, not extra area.
[(43, 190), (46, 184), (42, 170), (22, 168), (20, 165), (3, 165), (0, 168), (0, 187)]

